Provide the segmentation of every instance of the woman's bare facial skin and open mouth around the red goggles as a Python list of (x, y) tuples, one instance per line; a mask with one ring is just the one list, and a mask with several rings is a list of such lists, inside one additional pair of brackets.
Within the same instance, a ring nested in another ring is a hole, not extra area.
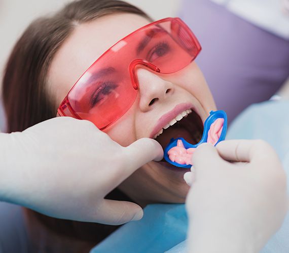
[[(95, 21), (75, 24), (54, 57), (48, 73), (48, 92), (56, 107), (85, 70), (118, 40), (150, 23), (135, 14), (113, 14)], [(202, 122), (215, 109), (202, 72), (195, 62), (173, 74), (159, 74), (146, 68), (136, 69), (138, 95), (132, 107), (105, 132), (122, 146), (137, 139), (154, 136), (167, 125), (176, 113), (193, 112), (164, 130), (157, 137), (162, 146), (170, 138), (184, 137), (191, 143), (200, 139)], [(189, 124), (190, 122), (190, 124)], [(178, 126), (176, 126), (178, 125)], [(185, 127), (186, 126), (186, 127)], [(119, 188), (141, 205), (152, 202), (185, 201), (188, 186), (183, 179), (187, 170), (172, 169), (166, 162), (143, 165)]]

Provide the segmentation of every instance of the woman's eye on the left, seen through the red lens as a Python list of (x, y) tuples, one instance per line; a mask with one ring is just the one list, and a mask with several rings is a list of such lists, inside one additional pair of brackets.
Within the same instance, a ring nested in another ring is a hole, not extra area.
[(95, 92), (92, 94), (90, 98), (90, 106), (94, 107), (95, 105), (99, 104), (100, 101), (104, 101), (110, 97), (110, 94), (117, 89), (119, 86), (111, 81), (103, 82), (98, 85)]

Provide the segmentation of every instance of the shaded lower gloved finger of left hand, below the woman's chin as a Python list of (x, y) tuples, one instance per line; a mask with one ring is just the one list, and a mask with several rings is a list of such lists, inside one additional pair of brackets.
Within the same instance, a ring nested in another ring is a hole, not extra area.
[(95, 222), (108, 225), (121, 225), (138, 221), (143, 216), (142, 208), (132, 202), (103, 199), (97, 206)]

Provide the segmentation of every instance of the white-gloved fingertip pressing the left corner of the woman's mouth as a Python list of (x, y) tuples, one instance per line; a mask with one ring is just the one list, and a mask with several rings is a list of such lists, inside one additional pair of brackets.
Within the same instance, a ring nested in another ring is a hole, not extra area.
[(127, 178), (143, 164), (152, 160), (160, 161), (163, 158), (163, 149), (157, 141), (142, 138), (126, 147), (124, 155), (126, 158), (126, 173), (123, 176)]

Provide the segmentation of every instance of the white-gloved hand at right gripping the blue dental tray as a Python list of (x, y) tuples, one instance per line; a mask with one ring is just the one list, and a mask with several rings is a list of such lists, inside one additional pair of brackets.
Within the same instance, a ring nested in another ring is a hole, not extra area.
[(275, 151), (261, 140), (203, 144), (193, 164), (186, 175), (193, 174), (190, 252), (259, 252), (287, 211), (286, 176)]

